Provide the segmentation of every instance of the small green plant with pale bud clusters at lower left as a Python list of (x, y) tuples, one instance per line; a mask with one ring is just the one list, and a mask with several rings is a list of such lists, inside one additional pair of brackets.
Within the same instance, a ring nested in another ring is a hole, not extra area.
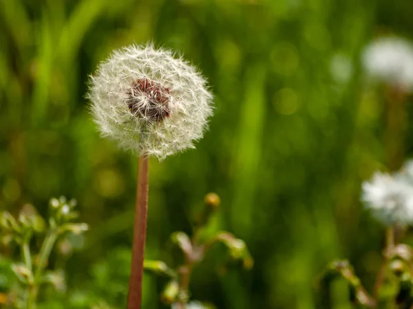
[[(21, 256), (10, 264), (17, 277), (15, 284), (5, 291), (11, 308), (36, 308), (39, 293), (47, 285), (52, 285), (57, 290), (65, 289), (63, 270), (48, 266), (50, 254), (56, 248), (59, 238), (68, 233), (78, 235), (88, 229), (85, 223), (73, 222), (78, 217), (75, 206), (76, 201), (66, 201), (63, 196), (59, 199), (52, 198), (47, 222), (31, 205), (23, 207), (17, 219), (7, 211), (0, 214), (3, 244), (10, 249), (17, 247)], [(36, 251), (38, 243), (41, 245)]]

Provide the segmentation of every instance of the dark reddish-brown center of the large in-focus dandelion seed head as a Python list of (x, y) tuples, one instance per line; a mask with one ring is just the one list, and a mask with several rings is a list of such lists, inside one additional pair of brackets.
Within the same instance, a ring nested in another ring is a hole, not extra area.
[(136, 80), (128, 93), (127, 107), (135, 117), (162, 122), (169, 117), (169, 88), (142, 78)]

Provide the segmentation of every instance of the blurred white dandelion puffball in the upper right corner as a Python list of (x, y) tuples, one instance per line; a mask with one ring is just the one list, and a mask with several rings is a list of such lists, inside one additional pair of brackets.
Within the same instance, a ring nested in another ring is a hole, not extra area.
[(413, 90), (413, 45), (395, 36), (378, 38), (363, 52), (362, 64), (368, 76), (400, 89)]

